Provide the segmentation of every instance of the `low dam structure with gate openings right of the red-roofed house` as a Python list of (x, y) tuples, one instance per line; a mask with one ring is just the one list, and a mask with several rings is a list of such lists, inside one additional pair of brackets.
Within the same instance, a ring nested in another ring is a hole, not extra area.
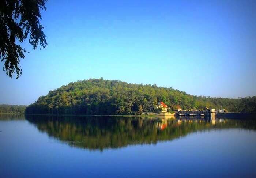
[(215, 117), (215, 109), (176, 111), (176, 116), (184, 117)]

